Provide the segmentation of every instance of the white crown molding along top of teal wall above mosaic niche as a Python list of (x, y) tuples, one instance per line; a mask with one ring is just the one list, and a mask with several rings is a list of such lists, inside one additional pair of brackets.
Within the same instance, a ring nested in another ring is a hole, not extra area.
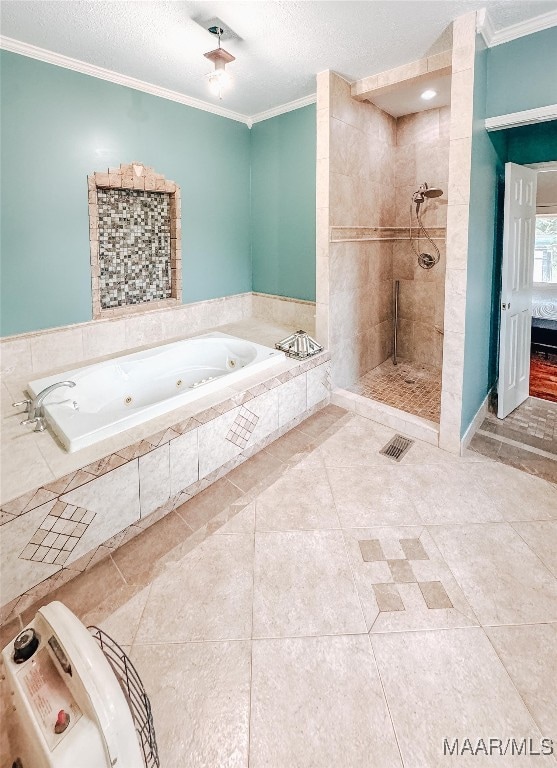
[(159, 96), (161, 99), (176, 101), (178, 104), (184, 104), (187, 107), (201, 109), (204, 112), (211, 112), (213, 115), (227, 117), (229, 120), (236, 120), (237, 122), (245, 123), (246, 125), (249, 124), (250, 118), (239, 112), (233, 112), (230, 109), (225, 109), (224, 107), (201, 101), (201, 99), (194, 99), (193, 97), (186, 96), (178, 91), (171, 91), (169, 88), (153, 85), (153, 83), (146, 83), (144, 80), (137, 80), (135, 77), (121, 75), (119, 72), (114, 72), (111, 69), (104, 69), (104, 67), (97, 67), (95, 64), (88, 64), (79, 59), (72, 59), (69, 56), (63, 56), (61, 53), (48, 51), (46, 48), (38, 48), (36, 45), (22, 43), (20, 40), (14, 40), (11, 37), (1, 35), (0, 48), (3, 48), (5, 51), (10, 51), (11, 53), (19, 53), (21, 56), (28, 56), (31, 59), (44, 61), (47, 64), (54, 64), (57, 67), (71, 69), (74, 72), (81, 72), (83, 75), (97, 77), (100, 80), (108, 80), (108, 82), (116, 83), (116, 85), (123, 85), (126, 88), (143, 91), (144, 93), (151, 94), (151, 96)]

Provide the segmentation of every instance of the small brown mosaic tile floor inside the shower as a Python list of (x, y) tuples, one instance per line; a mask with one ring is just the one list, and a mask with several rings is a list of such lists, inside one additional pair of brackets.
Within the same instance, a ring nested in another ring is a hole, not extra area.
[(348, 387), (350, 392), (439, 423), (441, 371), (419, 363), (386, 360)]

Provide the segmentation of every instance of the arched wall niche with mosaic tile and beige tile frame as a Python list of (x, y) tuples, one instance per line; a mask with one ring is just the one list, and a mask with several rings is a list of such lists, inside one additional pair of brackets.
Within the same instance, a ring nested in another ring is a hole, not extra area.
[(177, 184), (131, 163), (91, 174), (88, 188), (93, 318), (181, 303)]

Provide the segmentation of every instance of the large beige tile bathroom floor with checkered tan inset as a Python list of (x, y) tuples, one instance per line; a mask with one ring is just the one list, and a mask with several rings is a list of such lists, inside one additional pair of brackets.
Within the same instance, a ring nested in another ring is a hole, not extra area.
[(443, 754), (557, 747), (557, 486), (392, 434), (329, 406), (45, 600), (129, 648), (163, 768), (557, 765)]

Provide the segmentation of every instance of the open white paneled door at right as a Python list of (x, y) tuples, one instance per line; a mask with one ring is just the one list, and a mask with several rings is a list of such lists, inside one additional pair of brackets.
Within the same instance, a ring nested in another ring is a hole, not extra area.
[(505, 207), (497, 416), (528, 397), (537, 171), (505, 165)]

